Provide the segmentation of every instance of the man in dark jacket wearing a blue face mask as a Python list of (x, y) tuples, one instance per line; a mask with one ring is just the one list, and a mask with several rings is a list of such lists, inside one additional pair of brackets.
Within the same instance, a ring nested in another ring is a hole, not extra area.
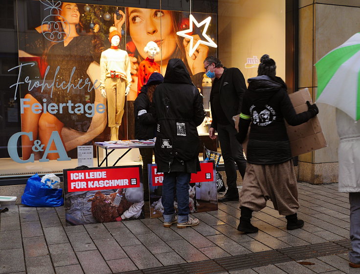
[[(219, 202), (239, 200), (239, 191), (236, 186), (237, 174), (235, 163), (244, 179), (246, 161), (243, 147), (236, 141), (235, 123), (232, 117), (240, 114), (243, 95), (246, 90), (245, 79), (236, 67), (226, 68), (215, 56), (208, 56), (204, 61), (206, 76), (213, 80), (210, 104), (212, 123), (209, 129), (211, 139), (218, 138), (221, 153), (224, 158), (227, 191)], [(215, 79), (214, 79), (215, 78)]]

